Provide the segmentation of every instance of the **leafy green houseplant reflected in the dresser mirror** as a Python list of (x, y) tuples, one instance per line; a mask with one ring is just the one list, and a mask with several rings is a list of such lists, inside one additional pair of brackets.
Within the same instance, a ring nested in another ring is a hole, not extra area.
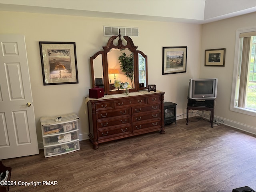
[(126, 56), (126, 53), (123, 52), (120, 57), (118, 57), (120, 63), (120, 69), (124, 74), (131, 80), (133, 88), (133, 78), (134, 78), (134, 66), (133, 66), (133, 53), (129, 56)]

